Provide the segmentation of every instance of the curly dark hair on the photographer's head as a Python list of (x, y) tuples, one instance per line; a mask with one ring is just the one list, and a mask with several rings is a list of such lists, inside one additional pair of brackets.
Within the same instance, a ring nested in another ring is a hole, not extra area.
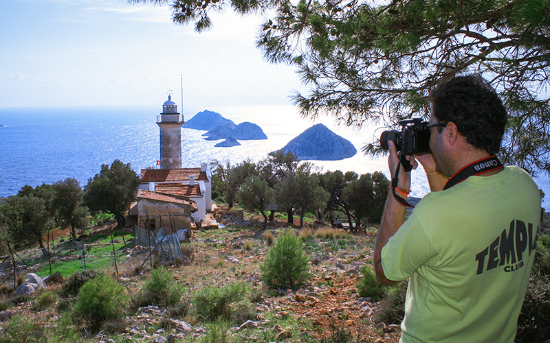
[(494, 89), (478, 75), (445, 80), (430, 93), (432, 115), (439, 122), (456, 124), (466, 141), (489, 154), (500, 149), (506, 110)]

